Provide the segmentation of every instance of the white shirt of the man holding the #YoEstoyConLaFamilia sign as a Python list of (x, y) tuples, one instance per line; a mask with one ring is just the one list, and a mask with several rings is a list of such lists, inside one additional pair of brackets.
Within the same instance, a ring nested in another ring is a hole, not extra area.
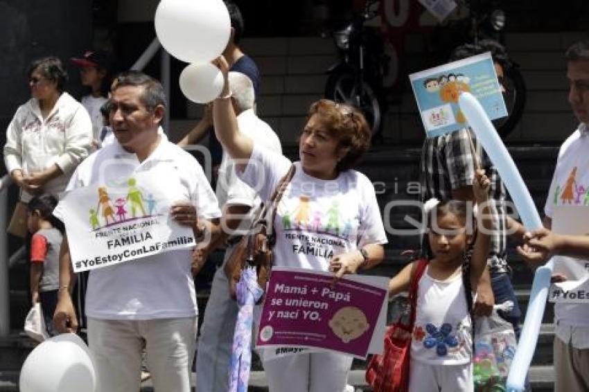
[[(166, 199), (190, 200), (204, 219), (220, 217), (217, 199), (199, 163), (160, 134), (148, 159), (120, 144), (91, 154), (76, 169), (67, 190), (90, 184), (121, 184), (132, 173), (149, 172), (161, 182)], [(64, 215), (58, 204), (55, 215)], [(167, 319), (197, 314), (191, 274), (191, 249), (168, 251), (90, 271), (86, 293), (87, 317), (95, 319)]]

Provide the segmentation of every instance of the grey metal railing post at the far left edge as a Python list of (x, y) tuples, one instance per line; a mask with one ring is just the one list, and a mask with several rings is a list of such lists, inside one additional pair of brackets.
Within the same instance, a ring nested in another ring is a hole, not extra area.
[(10, 289), (8, 287), (8, 188), (12, 177), (4, 175), (0, 179), (0, 337), (10, 334)]

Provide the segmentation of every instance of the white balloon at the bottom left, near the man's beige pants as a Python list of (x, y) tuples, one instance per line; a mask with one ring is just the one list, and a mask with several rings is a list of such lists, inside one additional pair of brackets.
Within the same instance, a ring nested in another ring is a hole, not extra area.
[(94, 392), (96, 373), (88, 347), (76, 334), (47, 339), (21, 368), (21, 392)]

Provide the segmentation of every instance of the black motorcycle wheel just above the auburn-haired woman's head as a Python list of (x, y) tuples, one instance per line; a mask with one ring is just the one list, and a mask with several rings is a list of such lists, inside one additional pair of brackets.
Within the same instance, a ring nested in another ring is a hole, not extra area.
[(372, 135), (380, 134), (383, 127), (383, 105), (375, 89), (366, 81), (362, 81), (362, 94), (359, 95), (352, 73), (332, 73), (325, 86), (325, 98), (358, 108), (371, 127)]

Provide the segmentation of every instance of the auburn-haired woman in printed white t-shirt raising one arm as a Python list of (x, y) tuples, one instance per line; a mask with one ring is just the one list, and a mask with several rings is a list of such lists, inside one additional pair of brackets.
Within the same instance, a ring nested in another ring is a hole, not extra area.
[[(242, 162), (241, 179), (268, 200), (293, 163), (238, 130), (223, 57), (218, 66), (225, 87), (213, 105), (215, 132), (229, 156)], [(370, 130), (358, 110), (330, 100), (311, 105), (300, 161), (276, 211), (275, 265), (341, 277), (383, 260), (387, 238), (374, 188), (351, 170), (369, 143)], [(343, 391), (352, 363), (352, 357), (327, 351), (278, 358), (264, 351), (261, 357), (270, 391), (281, 392)]]

